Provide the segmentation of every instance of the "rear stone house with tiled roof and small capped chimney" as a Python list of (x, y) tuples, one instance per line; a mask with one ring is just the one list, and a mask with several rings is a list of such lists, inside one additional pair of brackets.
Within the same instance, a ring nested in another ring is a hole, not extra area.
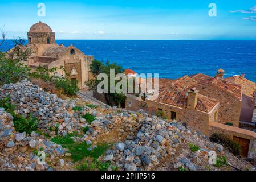
[(238, 127), (242, 107), (242, 88), (239, 84), (223, 80), (223, 77), (224, 70), (219, 69), (215, 78), (197, 73), (191, 76), (185, 75), (177, 80), (166, 81), (160, 79), (159, 88), (160, 90), (177, 91), (197, 88), (202, 95), (214, 98), (220, 102), (218, 122)]

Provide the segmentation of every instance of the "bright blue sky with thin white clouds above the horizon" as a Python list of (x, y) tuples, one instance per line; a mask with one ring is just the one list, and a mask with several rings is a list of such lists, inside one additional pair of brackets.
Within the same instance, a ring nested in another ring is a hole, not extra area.
[[(2, 1), (7, 38), (26, 38), (32, 24), (51, 26), (56, 39), (256, 40), (255, 0)], [(39, 17), (38, 3), (46, 5)], [(210, 17), (216, 3), (217, 17)]]

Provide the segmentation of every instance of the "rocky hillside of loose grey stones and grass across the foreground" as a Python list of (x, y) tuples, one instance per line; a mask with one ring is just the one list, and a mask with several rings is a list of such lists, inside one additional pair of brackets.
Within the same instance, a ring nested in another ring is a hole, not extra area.
[[(181, 122), (143, 110), (108, 109), (82, 97), (62, 100), (27, 80), (3, 85), (0, 100), (6, 98), (9, 105), (0, 108), (1, 170), (255, 170)], [(29, 118), (38, 119), (37, 129), (26, 133), (21, 126), (31, 124)], [(212, 150), (216, 165), (208, 163)], [(45, 164), (38, 163), (41, 151)]]

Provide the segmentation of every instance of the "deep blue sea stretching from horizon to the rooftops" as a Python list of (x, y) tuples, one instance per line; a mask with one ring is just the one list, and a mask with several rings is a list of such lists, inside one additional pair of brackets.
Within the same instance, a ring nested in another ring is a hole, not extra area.
[[(7, 40), (11, 47), (11, 40)], [(176, 79), (204, 73), (214, 76), (217, 69), (225, 77), (245, 73), (256, 82), (256, 41), (212, 40), (56, 40), (73, 44), (95, 59), (116, 62), (137, 73), (159, 73), (160, 78)]]

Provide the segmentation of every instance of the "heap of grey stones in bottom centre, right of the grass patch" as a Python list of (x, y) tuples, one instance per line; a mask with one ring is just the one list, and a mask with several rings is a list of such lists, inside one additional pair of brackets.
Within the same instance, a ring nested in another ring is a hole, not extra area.
[[(132, 127), (127, 128), (131, 133), (136, 132)], [(107, 151), (104, 160), (125, 170), (150, 170), (159, 164), (159, 160), (174, 154), (185, 131), (186, 127), (181, 122), (145, 117), (135, 139), (117, 143), (113, 150)]]

